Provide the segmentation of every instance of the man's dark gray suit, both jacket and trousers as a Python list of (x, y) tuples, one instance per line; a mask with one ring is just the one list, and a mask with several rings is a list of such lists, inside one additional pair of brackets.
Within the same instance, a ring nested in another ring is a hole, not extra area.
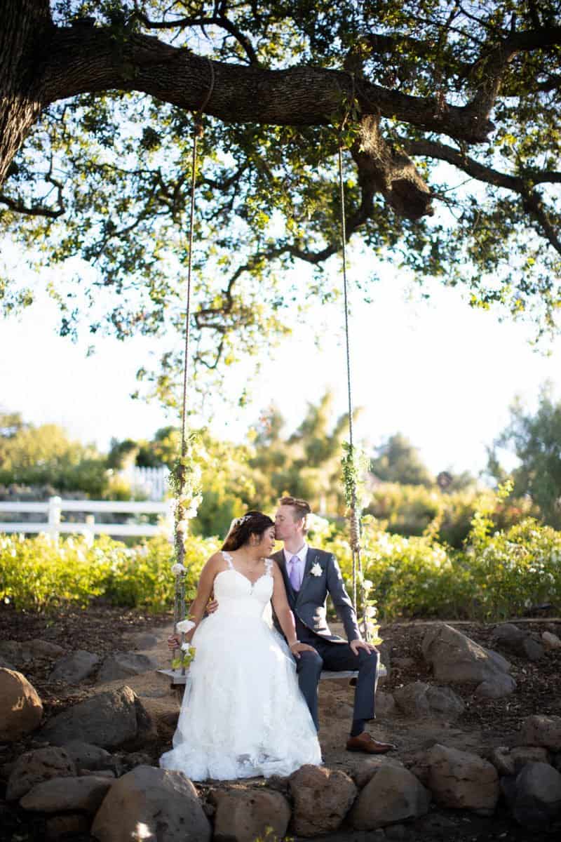
[[(300, 690), (310, 708), (315, 727), (319, 728), (317, 690), (320, 673), (324, 668), (334, 671), (358, 670), (353, 718), (355, 720), (373, 719), (379, 655), (377, 652), (368, 652), (366, 649), (360, 649), (355, 655), (347, 641), (332, 634), (327, 625), (325, 602), (329, 594), (335, 605), (337, 616), (345, 627), (347, 639), (352, 641), (361, 637), (357, 626), (357, 615), (345, 590), (336, 557), (331, 552), (309, 547), (299, 591), (294, 590), (288, 578), (283, 550), (275, 552), (272, 558), (278, 562), (283, 573), (288, 605), (294, 613), (298, 639), (315, 648), (315, 653), (302, 652), (300, 657), (296, 658)], [(320, 569), (318, 570), (315, 565), (318, 565)], [(312, 568), (318, 575), (311, 572)], [(273, 620), (282, 634), (276, 616), (273, 616)]]

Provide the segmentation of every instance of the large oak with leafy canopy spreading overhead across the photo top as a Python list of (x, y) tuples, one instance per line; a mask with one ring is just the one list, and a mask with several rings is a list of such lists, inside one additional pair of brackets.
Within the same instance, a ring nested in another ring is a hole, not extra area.
[[(560, 15), (557, 0), (4, 0), (4, 231), (34, 259), (90, 265), (50, 287), (61, 333), (85, 313), (92, 333), (172, 337), (204, 104), (203, 369), (282, 335), (284, 306), (332, 295), (340, 140), (349, 238), (553, 329)], [(295, 264), (315, 269), (305, 290)], [(0, 282), (8, 312), (33, 299), (19, 277)], [(140, 376), (172, 400), (177, 368), (171, 341)]]

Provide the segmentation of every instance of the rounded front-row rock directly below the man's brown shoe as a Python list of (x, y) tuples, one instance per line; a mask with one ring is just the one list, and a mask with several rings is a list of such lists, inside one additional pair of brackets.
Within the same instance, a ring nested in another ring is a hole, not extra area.
[(381, 766), (364, 787), (351, 811), (353, 828), (375, 830), (418, 818), (428, 812), (431, 793), (410, 771)]

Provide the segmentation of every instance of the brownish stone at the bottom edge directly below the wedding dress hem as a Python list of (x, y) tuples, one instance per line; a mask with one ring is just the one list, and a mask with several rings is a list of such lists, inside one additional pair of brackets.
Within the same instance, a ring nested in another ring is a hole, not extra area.
[(284, 839), (290, 821), (290, 805), (280, 792), (234, 790), (214, 793), (216, 842), (255, 842)]

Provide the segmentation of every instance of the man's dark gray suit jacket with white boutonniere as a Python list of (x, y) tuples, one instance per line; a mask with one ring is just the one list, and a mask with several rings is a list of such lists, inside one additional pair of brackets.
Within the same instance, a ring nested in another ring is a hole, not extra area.
[[(316, 550), (311, 546), (308, 547), (304, 564), (304, 577), (302, 578), (302, 585), (298, 592), (295, 592), (290, 584), (283, 550), (275, 552), (271, 557), (274, 561), (278, 562), (278, 566), (283, 573), (288, 605), (290, 605), (294, 616), (311, 632), (312, 637), (316, 635), (333, 643), (347, 642), (342, 637), (339, 637), (339, 635), (332, 634), (330, 627), (327, 625), (325, 603), (328, 594), (331, 596), (337, 616), (343, 626), (345, 626), (347, 639), (351, 641), (361, 637), (358, 631), (357, 615), (345, 589), (336, 557), (331, 552)], [(315, 568), (316, 564), (321, 570), (318, 576), (311, 573), (311, 569)], [(282, 634), (283, 632), (276, 616), (273, 616), (273, 621), (278, 631)]]

